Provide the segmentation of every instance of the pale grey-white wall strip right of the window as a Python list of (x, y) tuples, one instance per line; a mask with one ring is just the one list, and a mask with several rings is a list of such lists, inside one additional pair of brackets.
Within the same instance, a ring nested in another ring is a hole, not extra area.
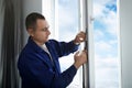
[(132, 88), (132, 0), (120, 0), (121, 86)]

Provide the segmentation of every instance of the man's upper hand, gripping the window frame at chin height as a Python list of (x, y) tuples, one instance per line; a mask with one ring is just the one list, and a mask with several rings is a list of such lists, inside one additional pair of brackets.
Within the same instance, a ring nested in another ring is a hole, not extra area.
[(86, 33), (81, 31), (76, 35), (74, 43), (80, 44), (81, 42), (85, 42), (85, 41), (86, 41)]

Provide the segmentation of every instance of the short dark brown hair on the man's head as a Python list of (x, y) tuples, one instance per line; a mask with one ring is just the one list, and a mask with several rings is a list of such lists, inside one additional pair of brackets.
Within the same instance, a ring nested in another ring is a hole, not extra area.
[(36, 21), (38, 19), (42, 19), (42, 20), (45, 20), (45, 16), (40, 14), (40, 13), (36, 13), (36, 12), (33, 12), (33, 13), (30, 13), (26, 19), (25, 19), (25, 28), (26, 30), (28, 29), (33, 29), (35, 30), (36, 29)]

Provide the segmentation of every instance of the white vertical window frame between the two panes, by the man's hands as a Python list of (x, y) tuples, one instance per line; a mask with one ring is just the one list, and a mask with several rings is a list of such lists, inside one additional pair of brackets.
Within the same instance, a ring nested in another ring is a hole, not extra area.
[(88, 63), (84, 65), (84, 88), (95, 88), (95, 52), (92, 29), (92, 0), (80, 0), (81, 29), (87, 34)]

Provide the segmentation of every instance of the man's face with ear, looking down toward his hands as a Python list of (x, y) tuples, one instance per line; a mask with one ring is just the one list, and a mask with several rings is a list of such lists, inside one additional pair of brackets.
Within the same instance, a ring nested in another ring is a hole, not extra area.
[(38, 19), (36, 21), (35, 31), (30, 33), (35, 43), (42, 45), (48, 41), (48, 35), (51, 34), (48, 28), (50, 25), (46, 20)]

